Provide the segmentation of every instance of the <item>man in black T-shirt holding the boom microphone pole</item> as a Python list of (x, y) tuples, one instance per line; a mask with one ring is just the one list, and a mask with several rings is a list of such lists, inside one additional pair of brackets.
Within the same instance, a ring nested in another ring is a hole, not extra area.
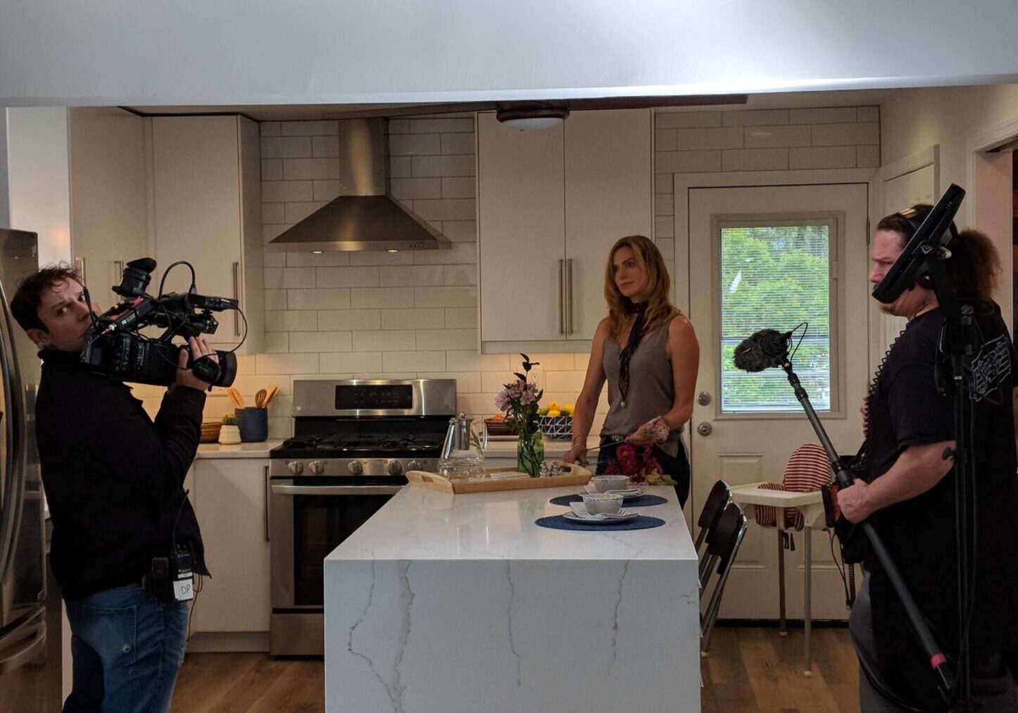
[[(915, 206), (881, 220), (872, 240), (870, 282), (884, 279), (911, 238), (913, 224), (929, 210)], [(993, 301), (1001, 270), (993, 242), (978, 231), (964, 230), (950, 250), (951, 258), (944, 262), (946, 286), (961, 306), (973, 310), (980, 338), (971, 366), (980, 379), (973, 384), (973, 400), (966, 404), (972, 415), (974, 493), (969, 492), (968, 502), (974, 513), (968, 522), (975, 542), (974, 557), (969, 558), (975, 584), (971, 612), (965, 612), (971, 616), (967, 635), (972, 701), (964, 710), (1014, 713), (1014, 683), (1001, 652), (1018, 643), (1015, 352)], [(908, 326), (888, 352), (865, 401), (867, 472), (838, 493), (838, 504), (850, 522), (868, 519), (884, 539), (954, 667), (962, 632), (955, 565), (956, 476), (952, 460), (945, 458), (945, 449), (955, 445), (954, 398), (938, 389), (944, 314), (926, 278), (881, 309), (907, 318)], [(849, 620), (861, 668), (861, 709), (944, 710), (929, 661), (919, 653), (887, 572), (871, 552), (863, 563), (866, 574)]]

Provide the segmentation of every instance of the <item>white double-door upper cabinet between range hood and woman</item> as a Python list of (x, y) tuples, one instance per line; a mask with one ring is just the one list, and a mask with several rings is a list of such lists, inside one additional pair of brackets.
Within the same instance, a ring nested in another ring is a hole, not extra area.
[(652, 234), (651, 122), (646, 109), (580, 111), (518, 131), (477, 115), (483, 350), (588, 348), (608, 251)]

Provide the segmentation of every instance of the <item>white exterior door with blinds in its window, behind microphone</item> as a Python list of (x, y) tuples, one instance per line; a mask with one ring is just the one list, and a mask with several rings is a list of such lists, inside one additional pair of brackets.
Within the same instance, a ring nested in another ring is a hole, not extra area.
[[(865, 183), (689, 188), (690, 314), (700, 343), (692, 417), (693, 512), (711, 486), (780, 483), (791, 452), (816, 443), (781, 370), (735, 369), (732, 351), (767, 327), (808, 322), (793, 358), (843, 453), (862, 438), (869, 300)], [(812, 614), (845, 618), (829, 536), (814, 532)], [(802, 616), (802, 535), (786, 552), (788, 615)], [(777, 618), (778, 536), (750, 523), (722, 605), (726, 618)]]

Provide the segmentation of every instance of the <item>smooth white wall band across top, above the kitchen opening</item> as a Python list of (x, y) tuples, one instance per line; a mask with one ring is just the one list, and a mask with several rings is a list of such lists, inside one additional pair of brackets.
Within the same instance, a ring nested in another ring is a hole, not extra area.
[(955, 0), (8, 0), (0, 105), (421, 102), (1013, 81), (1016, 24), (1014, 0), (980, 0), (978, 11)]

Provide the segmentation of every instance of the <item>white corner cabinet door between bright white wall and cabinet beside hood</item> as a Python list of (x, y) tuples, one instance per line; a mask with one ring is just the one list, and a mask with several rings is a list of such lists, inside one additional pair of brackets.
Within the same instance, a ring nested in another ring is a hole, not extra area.
[(145, 120), (113, 107), (67, 110), (74, 264), (105, 311), (127, 261), (149, 255)]

